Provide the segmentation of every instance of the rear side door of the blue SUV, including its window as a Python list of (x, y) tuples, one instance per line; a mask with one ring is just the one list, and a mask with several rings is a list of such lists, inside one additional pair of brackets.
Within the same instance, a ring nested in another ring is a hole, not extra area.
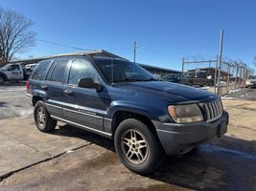
[(42, 91), (47, 94), (46, 107), (54, 117), (63, 117), (63, 90), (68, 60), (56, 60), (49, 69), (46, 79), (41, 83)]

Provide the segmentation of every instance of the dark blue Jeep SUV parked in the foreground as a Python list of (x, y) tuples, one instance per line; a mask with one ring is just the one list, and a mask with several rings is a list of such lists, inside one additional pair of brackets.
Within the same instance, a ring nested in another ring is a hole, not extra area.
[(60, 56), (42, 61), (27, 83), (35, 124), (57, 121), (113, 138), (124, 165), (151, 173), (165, 154), (184, 154), (223, 136), (228, 114), (221, 97), (160, 81), (126, 59)]

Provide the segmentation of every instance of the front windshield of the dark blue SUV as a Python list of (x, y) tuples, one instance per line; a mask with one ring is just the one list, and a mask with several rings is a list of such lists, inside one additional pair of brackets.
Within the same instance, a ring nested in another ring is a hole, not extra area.
[[(141, 68), (138, 64), (124, 60), (94, 60), (101, 73), (105, 76), (107, 83), (132, 82), (132, 81), (156, 81), (157, 78)], [(113, 67), (113, 69), (112, 69)]]

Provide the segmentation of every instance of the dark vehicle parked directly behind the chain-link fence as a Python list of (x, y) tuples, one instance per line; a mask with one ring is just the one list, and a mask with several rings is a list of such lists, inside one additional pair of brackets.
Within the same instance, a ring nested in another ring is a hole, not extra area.
[(214, 78), (207, 73), (185, 73), (179, 79), (181, 84), (188, 86), (213, 86)]

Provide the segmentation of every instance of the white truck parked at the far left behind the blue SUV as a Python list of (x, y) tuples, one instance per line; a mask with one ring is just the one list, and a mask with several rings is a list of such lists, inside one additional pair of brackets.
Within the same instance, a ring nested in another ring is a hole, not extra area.
[(6, 81), (26, 80), (35, 69), (36, 64), (24, 65), (23, 63), (6, 64), (0, 68), (0, 85)]

